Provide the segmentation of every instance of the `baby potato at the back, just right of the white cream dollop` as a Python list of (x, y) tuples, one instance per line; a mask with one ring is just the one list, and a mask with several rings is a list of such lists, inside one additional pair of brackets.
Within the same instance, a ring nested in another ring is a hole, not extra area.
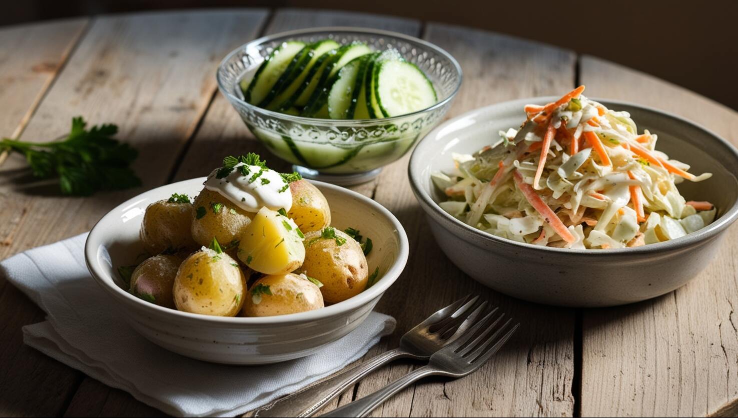
[(317, 187), (305, 179), (289, 183), (292, 192), (292, 208), (287, 216), (294, 219), (294, 223), (303, 233), (322, 230), (331, 225), (331, 208), (328, 200)]

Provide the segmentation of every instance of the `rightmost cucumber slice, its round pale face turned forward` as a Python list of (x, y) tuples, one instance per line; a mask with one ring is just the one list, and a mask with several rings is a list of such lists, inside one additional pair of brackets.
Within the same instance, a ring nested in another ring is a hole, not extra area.
[(433, 84), (415, 64), (390, 59), (378, 65), (374, 96), (385, 117), (417, 112), (438, 101)]

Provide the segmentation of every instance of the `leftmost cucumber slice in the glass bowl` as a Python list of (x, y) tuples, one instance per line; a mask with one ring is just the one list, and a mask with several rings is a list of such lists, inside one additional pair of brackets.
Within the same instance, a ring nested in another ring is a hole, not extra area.
[(269, 55), (256, 70), (254, 78), (248, 86), (246, 80), (241, 80), (241, 89), (244, 91), (244, 99), (249, 103), (261, 103), (269, 94), (277, 79), (283, 74), (292, 58), (305, 47), (304, 42), (289, 41), (280, 45), (279, 48)]

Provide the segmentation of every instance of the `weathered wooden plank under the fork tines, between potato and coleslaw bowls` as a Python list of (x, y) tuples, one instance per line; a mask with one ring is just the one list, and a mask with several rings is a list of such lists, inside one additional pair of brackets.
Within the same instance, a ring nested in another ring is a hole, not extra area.
[[(464, 81), (449, 117), (480, 106), (536, 95), (555, 95), (574, 83), (572, 52), (491, 32), (428, 24), (424, 38), (461, 63)], [(571, 416), (573, 334), (571, 309), (527, 304), (477, 284), (444, 256), (407, 181), (407, 161), (384, 169), (375, 199), (395, 213), (410, 238), (410, 260), (384, 295), (379, 310), (394, 315), (398, 331), (374, 351), (396, 346), (399, 337), (425, 315), (467, 293), (489, 298), (523, 323), (517, 337), (461, 380), (418, 383), (375, 411), (381, 417)], [(408, 304), (410, 301), (410, 304)], [(359, 383), (358, 397), (408, 370), (384, 369)]]

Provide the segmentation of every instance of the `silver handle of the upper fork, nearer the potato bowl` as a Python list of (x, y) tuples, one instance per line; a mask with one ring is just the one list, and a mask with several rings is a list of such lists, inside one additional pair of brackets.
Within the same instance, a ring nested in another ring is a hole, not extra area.
[(342, 394), (371, 371), (379, 369), (390, 361), (404, 357), (415, 358), (417, 356), (402, 349), (384, 352), (356, 366), (349, 366), (319, 383), (264, 405), (255, 411), (253, 417), (312, 417), (326, 403)]

